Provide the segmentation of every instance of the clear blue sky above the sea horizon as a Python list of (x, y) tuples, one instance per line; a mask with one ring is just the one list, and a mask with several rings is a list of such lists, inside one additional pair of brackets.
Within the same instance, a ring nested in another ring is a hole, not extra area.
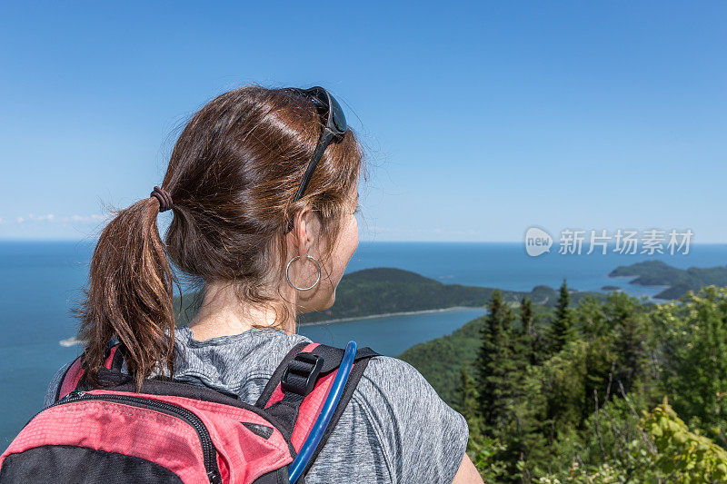
[(301, 5), (4, 4), (0, 238), (94, 237), (194, 111), (254, 82), (344, 102), (363, 240), (727, 242), (727, 4)]

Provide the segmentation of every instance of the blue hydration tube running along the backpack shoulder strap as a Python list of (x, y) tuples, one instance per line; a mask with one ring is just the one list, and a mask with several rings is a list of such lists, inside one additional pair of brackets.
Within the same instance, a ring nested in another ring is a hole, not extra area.
[(318, 414), (318, 419), (315, 420), (313, 428), (305, 439), (300, 452), (298, 452), (298, 455), (288, 468), (288, 479), (290, 479), (291, 484), (294, 484), (301, 477), (303, 469), (305, 469), (308, 461), (313, 457), (314, 450), (318, 447), (318, 442), (321, 441), (321, 438), (324, 436), (324, 431), (328, 428), (328, 423), (331, 421), (334, 410), (338, 406), (338, 400), (341, 400), (341, 394), (344, 393), (344, 386), (346, 381), (348, 381), (348, 376), (351, 374), (351, 367), (354, 366), (355, 355), (356, 341), (348, 341), (346, 351), (344, 351), (344, 358), (341, 360), (341, 366), (338, 367), (334, 384), (331, 386), (331, 390), (328, 390), (328, 395), (325, 398), (324, 406), (321, 408), (321, 413)]

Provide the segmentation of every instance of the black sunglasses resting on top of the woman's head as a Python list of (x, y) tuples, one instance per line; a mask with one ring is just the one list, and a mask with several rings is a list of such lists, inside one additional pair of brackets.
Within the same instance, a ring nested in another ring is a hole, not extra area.
[[(284, 91), (292, 91), (294, 93), (310, 97), (319, 112), (326, 116), (327, 119), (324, 130), (321, 133), (320, 138), (318, 138), (318, 144), (315, 146), (313, 157), (311, 158), (310, 163), (308, 163), (308, 168), (305, 170), (303, 175), (303, 181), (298, 187), (298, 192), (295, 193), (293, 202), (296, 202), (303, 196), (305, 187), (308, 186), (311, 175), (313, 175), (315, 170), (315, 165), (317, 165), (321, 160), (321, 157), (323, 157), (325, 149), (332, 142), (339, 143), (344, 139), (344, 134), (348, 129), (348, 124), (346, 124), (346, 117), (344, 116), (344, 110), (341, 109), (341, 104), (338, 104), (338, 101), (335, 100), (334, 96), (332, 96), (323, 87), (318, 85), (311, 87), (310, 89), (284, 87)], [(293, 225), (294, 221), (291, 220), (285, 232), (287, 233), (292, 231)]]

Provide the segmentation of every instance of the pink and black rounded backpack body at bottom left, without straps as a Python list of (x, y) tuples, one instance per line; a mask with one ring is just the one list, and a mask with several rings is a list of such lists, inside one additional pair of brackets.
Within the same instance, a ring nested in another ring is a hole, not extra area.
[(0, 481), (258, 484), (287, 480), (292, 460), (281, 431), (255, 410), (73, 391), (25, 425), (0, 456)]

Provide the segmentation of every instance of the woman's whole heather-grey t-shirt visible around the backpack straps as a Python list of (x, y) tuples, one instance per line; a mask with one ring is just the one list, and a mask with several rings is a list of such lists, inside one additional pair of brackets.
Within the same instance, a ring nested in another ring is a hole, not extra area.
[[(278, 329), (197, 341), (184, 327), (175, 331), (175, 339), (175, 379), (233, 392), (251, 404), (285, 354), (301, 341), (311, 342)], [(53, 402), (67, 366), (51, 381), (45, 406)], [(463, 416), (439, 398), (419, 371), (405, 361), (376, 356), (306, 480), (449, 484), (468, 435)]]

